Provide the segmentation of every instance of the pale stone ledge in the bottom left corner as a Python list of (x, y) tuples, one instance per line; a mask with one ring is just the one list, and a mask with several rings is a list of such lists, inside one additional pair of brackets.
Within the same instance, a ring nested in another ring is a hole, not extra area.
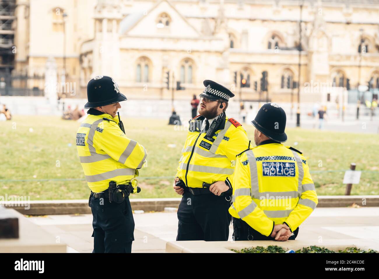
[(19, 238), (1, 239), (0, 253), (66, 253), (66, 244), (56, 243), (55, 235), (45, 232), (22, 214), (14, 213), (19, 218)]

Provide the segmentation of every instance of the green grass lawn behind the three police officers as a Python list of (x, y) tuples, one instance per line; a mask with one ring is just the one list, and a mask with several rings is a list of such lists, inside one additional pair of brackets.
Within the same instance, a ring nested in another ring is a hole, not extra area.
[[(142, 191), (132, 198), (179, 197), (172, 190), (171, 178), (149, 178), (174, 177), (187, 131), (175, 131), (167, 125), (168, 120), (123, 122), (127, 136), (148, 152), (147, 167), (140, 170)], [(59, 117), (15, 116), (0, 125), (0, 195), (30, 196), (31, 200), (88, 198), (90, 191), (80, 180), (84, 174), (75, 146), (80, 123)], [(244, 127), (253, 139), (253, 127)], [(346, 170), (351, 162), (357, 164), (357, 170), (365, 171), (351, 194), (379, 194), (379, 135), (305, 129), (288, 129), (287, 134), (285, 144), (301, 150), (307, 158), (319, 195), (344, 194), (343, 172), (320, 171)]]

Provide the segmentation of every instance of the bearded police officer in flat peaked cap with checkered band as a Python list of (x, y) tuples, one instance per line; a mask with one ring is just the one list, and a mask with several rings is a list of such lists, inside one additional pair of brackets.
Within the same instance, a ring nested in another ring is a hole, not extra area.
[(176, 240), (227, 241), (236, 154), (248, 147), (246, 131), (225, 110), (234, 94), (204, 80), (200, 109), (190, 121), (175, 191), (183, 195)]

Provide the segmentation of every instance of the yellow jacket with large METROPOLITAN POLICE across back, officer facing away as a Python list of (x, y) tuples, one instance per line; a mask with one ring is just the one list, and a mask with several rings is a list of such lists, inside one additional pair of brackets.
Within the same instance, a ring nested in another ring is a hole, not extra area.
[(229, 208), (233, 217), (266, 236), (276, 224), (286, 223), (291, 231), (296, 230), (318, 203), (303, 154), (272, 142), (237, 156)]

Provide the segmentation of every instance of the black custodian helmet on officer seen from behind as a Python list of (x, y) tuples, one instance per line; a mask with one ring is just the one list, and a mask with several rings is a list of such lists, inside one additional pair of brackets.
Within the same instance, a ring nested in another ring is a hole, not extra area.
[(285, 142), (287, 135), (285, 134), (285, 123), (287, 117), (285, 111), (277, 103), (264, 104), (257, 113), (257, 116), (251, 124), (270, 139), (277, 142)]

